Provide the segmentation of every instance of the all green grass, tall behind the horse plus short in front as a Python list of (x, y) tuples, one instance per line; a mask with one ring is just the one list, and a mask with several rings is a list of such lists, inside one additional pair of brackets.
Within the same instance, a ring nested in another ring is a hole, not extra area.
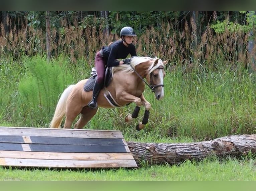
[[(132, 104), (117, 109), (100, 108), (85, 128), (120, 130), (126, 141), (168, 143), (255, 133), (252, 75), (242, 69), (182, 75), (182, 69), (170, 72), (167, 68), (166, 72), (164, 100), (157, 101), (149, 90), (145, 91), (152, 110), (144, 130), (136, 131), (136, 122), (123, 122), (125, 114), (134, 108)], [(58, 95), (89, 73), (90, 68), (83, 69), (82, 65), (69, 69), (65, 59), (52, 64), (37, 57), (18, 63), (3, 62), (0, 125), (47, 127)], [(139, 169), (0, 168), (0, 180), (256, 180), (255, 164), (255, 157), (249, 156)]]

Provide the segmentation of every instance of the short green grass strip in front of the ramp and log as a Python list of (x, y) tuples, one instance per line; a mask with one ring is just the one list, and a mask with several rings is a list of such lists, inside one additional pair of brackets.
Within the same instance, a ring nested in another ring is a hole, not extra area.
[(139, 169), (15, 169), (0, 167), (0, 180), (256, 180), (253, 158), (204, 159)]

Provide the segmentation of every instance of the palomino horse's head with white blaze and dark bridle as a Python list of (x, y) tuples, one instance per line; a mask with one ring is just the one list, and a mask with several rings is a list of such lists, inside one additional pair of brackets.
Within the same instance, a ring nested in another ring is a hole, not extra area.
[(155, 93), (155, 98), (160, 100), (164, 96), (164, 67), (167, 64), (168, 60), (162, 62), (161, 59), (156, 58), (155, 60), (152, 60), (152, 62), (152, 67), (149, 70), (146, 79), (149, 85), (151, 86), (151, 90)]

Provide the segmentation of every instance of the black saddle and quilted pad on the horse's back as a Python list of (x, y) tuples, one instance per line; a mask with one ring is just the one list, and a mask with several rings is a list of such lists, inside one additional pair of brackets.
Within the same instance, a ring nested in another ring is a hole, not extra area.
[[(109, 86), (111, 82), (111, 78), (112, 78), (111, 69), (112, 67), (108, 67), (108, 66), (105, 67), (104, 87), (106, 88)], [(86, 92), (92, 91), (96, 80), (97, 80), (96, 68), (92, 68), (91, 77), (86, 81), (84, 85), (84, 91)]]

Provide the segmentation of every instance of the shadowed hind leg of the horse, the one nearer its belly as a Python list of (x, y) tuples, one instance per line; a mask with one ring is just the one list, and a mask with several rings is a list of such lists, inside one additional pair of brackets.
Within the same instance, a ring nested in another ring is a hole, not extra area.
[(88, 106), (85, 106), (81, 111), (81, 116), (79, 120), (74, 125), (74, 128), (76, 129), (82, 129), (88, 121), (96, 114), (98, 108), (91, 109)]

